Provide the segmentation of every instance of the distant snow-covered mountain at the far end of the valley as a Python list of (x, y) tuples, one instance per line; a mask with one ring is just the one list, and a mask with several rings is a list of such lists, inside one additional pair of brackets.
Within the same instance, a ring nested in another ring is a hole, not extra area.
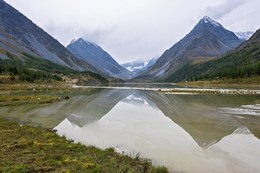
[(134, 74), (138, 74), (141, 71), (147, 70), (149, 67), (151, 67), (156, 61), (158, 57), (151, 58), (149, 60), (138, 60), (133, 62), (127, 62), (124, 64), (121, 64), (122, 67), (126, 68), (127, 70), (133, 72)]

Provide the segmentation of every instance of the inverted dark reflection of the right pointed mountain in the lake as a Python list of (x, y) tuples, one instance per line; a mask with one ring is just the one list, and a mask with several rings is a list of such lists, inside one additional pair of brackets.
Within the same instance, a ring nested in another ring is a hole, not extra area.
[[(248, 96), (215, 96), (215, 95), (163, 95), (156, 92), (149, 94), (158, 108), (175, 123), (187, 131), (202, 148), (208, 148), (231, 134), (239, 127), (247, 126), (249, 129), (259, 129), (256, 122), (260, 118), (249, 116), (240, 119), (236, 116), (223, 113), (220, 108), (226, 106), (236, 107), (248, 102), (258, 102), (257, 97)], [(253, 121), (254, 124), (245, 123)], [(259, 136), (259, 130), (252, 130)]]

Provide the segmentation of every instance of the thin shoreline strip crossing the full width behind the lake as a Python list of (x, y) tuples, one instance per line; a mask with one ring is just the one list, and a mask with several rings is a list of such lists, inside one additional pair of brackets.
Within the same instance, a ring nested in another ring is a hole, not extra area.
[[(111, 83), (116, 84), (116, 83)], [(121, 83), (123, 84), (123, 83)], [(164, 94), (242, 94), (242, 95), (260, 95), (260, 86), (256, 88), (248, 88), (240, 86), (234, 88), (233, 85), (225, 86), (184, 86), (175, 83), (125, 83), (130, 86), (90, 86), (77, 85), (72, 83), (16, 83), (16, 84), (0, 84), (0, 91), (69, 91), (71, 89), (122, 89), (122, 90), (142, 90), (142, 91), (158, 91)], [(132, 85), (151, 85), (151, 87), (139, 87)], [(172, 85), (173, 87), (163, 87), (157, 85)], [(155, 87), (152, 87), (152, 86)], [(174, 87), (176, 86), (176, 87)], [(258, 89), (259, 88), (259, 89)]]

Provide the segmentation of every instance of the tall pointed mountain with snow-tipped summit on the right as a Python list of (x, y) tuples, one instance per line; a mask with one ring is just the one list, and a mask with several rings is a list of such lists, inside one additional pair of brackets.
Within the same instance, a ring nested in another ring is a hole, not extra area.
[(208, 16), (203, 17), (182, 40), (166, 50), (156, 63), (136, 80), (163, 80), (185, 64), (216, 58), (235, 49), (242, 41)]

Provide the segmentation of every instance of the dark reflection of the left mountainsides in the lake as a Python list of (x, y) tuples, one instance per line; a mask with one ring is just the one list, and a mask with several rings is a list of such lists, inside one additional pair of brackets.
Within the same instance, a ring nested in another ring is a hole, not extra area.
[(0, 115), (19, 123), (53, 129), (68, 118), (78, 126), (100, 119), (129, 91), (93, 89), (92, 92), (75, 94), (69, 100), (53, 104), (0, 107)]

